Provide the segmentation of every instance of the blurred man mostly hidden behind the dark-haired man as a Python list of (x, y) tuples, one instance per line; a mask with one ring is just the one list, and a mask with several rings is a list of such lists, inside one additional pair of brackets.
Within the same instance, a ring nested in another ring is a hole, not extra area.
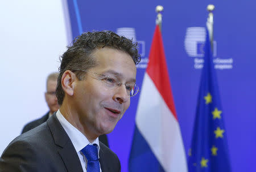
[[(46, 81), (46, 90), (47, 91), (44, 94), (44, 96), (46, 98), (46, 102), (49, 107), (49, 111), (45, 115), (43, 115), (43, 117), (26, 124), (26, 126), (24, 126), (24, 128), (22, 130), (22, 134), (24, 132), (27, 132), (27, 131), (39, 126), (40, 124), (46, 122), (47, 119), (49, 117), (51, 117), (51, 115), (59, 109), (59, 104), (57, 102), (57, 97), (56, 97), (56, 87), (57, 87), (58, 76), (59, 76), (58, 72), (53, 72), (53, 73), (49, 74), (47, 77), (47, 81)], [(99, 136), (98, 139), (102, 143), (104, 143), (107, 147), (109, 147), (108, 137), (106, 135), (101, 135), (101, 136)]]

